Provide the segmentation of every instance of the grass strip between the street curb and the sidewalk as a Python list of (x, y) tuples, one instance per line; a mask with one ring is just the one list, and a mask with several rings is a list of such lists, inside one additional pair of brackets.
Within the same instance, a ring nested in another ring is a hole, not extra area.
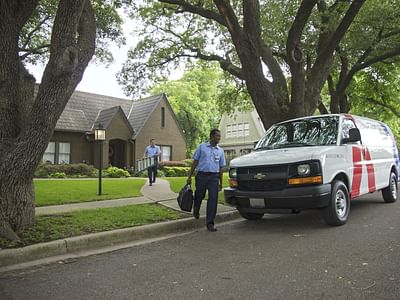
[(21, 243), (17, 244), (0, 238), (0, 248), (22, 247), (71, 236), (184, 217), (187, 215), (158, 204), (137, 204), (38, 216), (35, 225), (18, 233)]

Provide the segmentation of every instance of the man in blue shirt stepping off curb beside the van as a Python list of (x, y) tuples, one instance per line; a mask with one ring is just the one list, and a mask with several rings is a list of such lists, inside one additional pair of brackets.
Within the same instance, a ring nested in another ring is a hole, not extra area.
[(193, 207), (193, 216), (196, 219), (200, 217), (201, 202), (208, 190), (207, 229), (209, 231), (217, 231), (214, 227), (214, 219), (217, 214), (218, 191), (222, 189), (222, 167), (225, 165), (224, 150), (218, 146), (220, 140), (221, 132), (218, 129), (212, 129), (210, 141), (200, 144), (196, 149), (187, 178), (187, 183), (192, 184), (192, 175), (197, 168)]

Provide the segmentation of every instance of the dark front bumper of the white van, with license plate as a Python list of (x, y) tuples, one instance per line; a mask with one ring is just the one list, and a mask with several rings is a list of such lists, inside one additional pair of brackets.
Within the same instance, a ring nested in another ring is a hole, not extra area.
[[(291, 187), (280, 191), (255, 192), (224, 189), (225, 202), (244, 212), (266, 213), (271, 209), (307, 209), (328, 206), (331, 184)], [(262, 201), (263, 199), (264, 201)], [(264, 203), (263, 203), (264, 202)]]

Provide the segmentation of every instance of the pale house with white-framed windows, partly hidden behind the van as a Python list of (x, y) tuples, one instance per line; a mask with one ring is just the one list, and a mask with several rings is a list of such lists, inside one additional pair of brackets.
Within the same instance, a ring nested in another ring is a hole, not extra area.
[(235, 111), (232, 115), (224, 114), (219, 123), (219, 129), (221, 130), (219, 145), (225, 151), (227, 163), (237, 156), (251, 152), (254, 144), (265, 133), (256, 110), (251, 112)]

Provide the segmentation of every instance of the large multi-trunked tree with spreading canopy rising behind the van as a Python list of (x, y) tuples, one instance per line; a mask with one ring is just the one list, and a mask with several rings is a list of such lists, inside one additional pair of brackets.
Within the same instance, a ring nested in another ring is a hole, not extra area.
[(345, 112), (357, 72), (397, 63), (399, 2), (143, 0), (131, 5), (141, 40), (119, 81), (137, 93), (188, 61), (215, 61), (245, 86), (266, 127), (317, 108)]

